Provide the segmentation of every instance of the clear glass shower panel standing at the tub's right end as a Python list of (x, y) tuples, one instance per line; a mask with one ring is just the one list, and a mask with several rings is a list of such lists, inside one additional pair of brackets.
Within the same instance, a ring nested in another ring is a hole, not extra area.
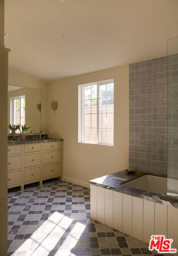
[(167, 41), (167, 194), (178, 198), (178, 37)]

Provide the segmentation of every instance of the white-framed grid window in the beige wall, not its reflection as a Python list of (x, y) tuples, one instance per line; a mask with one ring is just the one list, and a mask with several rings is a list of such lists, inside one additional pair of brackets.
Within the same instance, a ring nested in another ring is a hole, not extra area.
[(113, 145), (114, 80), (79, 86), (79, 142)]

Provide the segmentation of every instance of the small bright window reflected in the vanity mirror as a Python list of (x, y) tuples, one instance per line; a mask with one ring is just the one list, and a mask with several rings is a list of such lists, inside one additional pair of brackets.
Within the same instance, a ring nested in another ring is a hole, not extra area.
[(25, 124), (25, 96), (11, 98), (10, 120), (13, 124)]

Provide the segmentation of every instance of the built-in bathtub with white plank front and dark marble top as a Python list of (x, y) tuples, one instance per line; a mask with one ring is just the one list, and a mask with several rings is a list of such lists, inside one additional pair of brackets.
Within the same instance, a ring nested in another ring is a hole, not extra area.
[(151, 235), (164, 235), (178, 251), (178, 205), (167, 197), (167, 178), (121, 171), (90, 188), (92, 219), (148, 244)]

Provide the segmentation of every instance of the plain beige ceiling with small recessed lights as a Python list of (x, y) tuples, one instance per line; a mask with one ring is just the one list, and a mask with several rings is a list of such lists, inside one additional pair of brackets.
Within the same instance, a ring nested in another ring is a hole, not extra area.
[(177, 10), (178, 0), (5, 0), (9, 70), (49, 81), (165, 56)]

